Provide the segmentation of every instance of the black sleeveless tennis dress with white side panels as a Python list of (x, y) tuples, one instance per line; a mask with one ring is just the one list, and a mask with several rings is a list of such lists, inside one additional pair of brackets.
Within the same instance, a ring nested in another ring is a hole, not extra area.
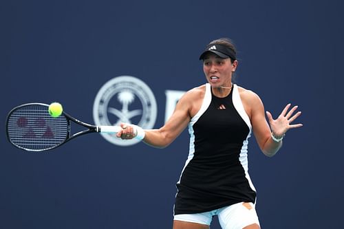
[(217, 98), (206, 84), (202, 107), (189, 124), (189, 157), (177, 183), (175, 215), (255, 202), (247, 162), (251, 129), (237, 85)]

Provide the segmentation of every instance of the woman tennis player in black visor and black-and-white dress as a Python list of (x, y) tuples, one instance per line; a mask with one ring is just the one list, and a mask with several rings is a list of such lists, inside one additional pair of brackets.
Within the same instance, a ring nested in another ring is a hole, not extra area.
[(225, 229), (260, 228), (256, 190), (248, 175), (248, 139), (255, 135), (261, 151), (272, 157), (300, 116), (297, 106), (284, 107), (273, 119), (254, 92), (232, 83), (237, 69), (230, 39), (217, 39), (201, 54), (208, 83), (187, 91), (160, 129), (121, 124), (118, 138), (138, 138), (166, 147), (188, 127), (189, 157), (177, 183), (173, 229), (208, 229), (214, 215)]

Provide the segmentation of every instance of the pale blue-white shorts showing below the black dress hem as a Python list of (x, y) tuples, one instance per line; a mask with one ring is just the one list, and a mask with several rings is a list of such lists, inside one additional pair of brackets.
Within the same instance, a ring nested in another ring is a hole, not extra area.
[(174, 220), (210, 226), (214, 215), (217, 215), (219, 218), (219, 224), (222, 229), (242, 229), (253, 223), (260, 225), (255, 205), (244, 202), (211, 210), (210, 212), (175, 215)]

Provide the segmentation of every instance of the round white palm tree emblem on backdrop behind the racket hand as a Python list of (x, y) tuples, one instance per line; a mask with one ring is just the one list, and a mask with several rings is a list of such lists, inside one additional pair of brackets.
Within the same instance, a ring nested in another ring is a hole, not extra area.
[[(93, 105), (93, 118), (98, 126), (119, 126), (121, 122), (152, 129), (158, 113), (151, 89), (133, 76), (118, 76), (100, 88)], [(130, 146), (139, 141), (122, 140), (115, 134), (102, 133), (109, 142)]]

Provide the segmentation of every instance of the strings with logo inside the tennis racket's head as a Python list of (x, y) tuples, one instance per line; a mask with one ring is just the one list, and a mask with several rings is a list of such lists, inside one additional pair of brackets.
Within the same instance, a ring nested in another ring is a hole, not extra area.
[(22, 149), (41, 151), (61, 144), (68, 134), (65, 116), (53, 118), (43, 105), (14, 110), (8, 118), (8, 137)]

